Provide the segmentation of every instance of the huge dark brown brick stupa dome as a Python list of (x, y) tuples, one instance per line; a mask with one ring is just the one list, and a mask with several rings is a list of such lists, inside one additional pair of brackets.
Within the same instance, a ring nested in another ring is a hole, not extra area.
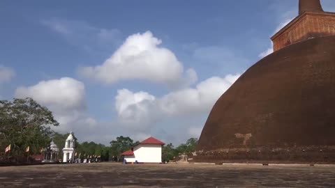
[(335, 162), (335, 36), (297, 41), (244, 72), (197, 150), (196, 162)]

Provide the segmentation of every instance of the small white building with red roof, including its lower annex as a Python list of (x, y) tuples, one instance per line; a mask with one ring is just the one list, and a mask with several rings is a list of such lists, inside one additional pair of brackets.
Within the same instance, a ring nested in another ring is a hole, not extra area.
[(126, 162), (139, 163), (161, 163), (162, 162), (162, 146), (165, 143), (150, 136), (148, 139), (141, 141), (133, 146), (130, 150), (123, 152)]

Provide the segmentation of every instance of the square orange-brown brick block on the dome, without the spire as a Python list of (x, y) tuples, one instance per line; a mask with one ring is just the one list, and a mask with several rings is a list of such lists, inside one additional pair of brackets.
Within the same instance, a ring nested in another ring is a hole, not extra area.
[(274, 51), (301, 40), (335, 35), (335, 13), (304, 13), (271, 38)]

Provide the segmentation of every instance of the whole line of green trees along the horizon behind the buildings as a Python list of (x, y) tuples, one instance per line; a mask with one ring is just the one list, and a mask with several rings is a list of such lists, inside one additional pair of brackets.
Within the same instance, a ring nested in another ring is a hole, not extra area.
[[(8, 159), (24, 162), (29, 156), (41, 155), (51, 141), (59, 148), (61, 159), (61, 149), (68, 134), (54, 132), (52, 126), (59, 126), (52, 112), (32, 98), (0, 100), (0, 162)], [(162, 161), (168, 162), (179, 153), (195, 151), (197, 142), (198, 139), (191, 138), (176, 148), (172, 143), (166, 144), (162, 148)], [(75, 137), (75, 155), (77, 158), (99, 157), (101, 161), (120, 162), (121, 153), (137, 143), (139, 141), (133, 141), (129, 136), (118, 136), (110, 141), (110, 146), (93, 141), (78, 143)]]

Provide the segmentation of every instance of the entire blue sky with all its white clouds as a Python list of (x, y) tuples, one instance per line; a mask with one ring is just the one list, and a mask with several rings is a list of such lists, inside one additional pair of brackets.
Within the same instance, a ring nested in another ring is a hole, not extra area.
[[(80, 141), (179, 144), (271, 52), (297, 3), (0, 1), (0, 99), (33, 97)], [(335, 1), (322, 6), (335, 11)]]

